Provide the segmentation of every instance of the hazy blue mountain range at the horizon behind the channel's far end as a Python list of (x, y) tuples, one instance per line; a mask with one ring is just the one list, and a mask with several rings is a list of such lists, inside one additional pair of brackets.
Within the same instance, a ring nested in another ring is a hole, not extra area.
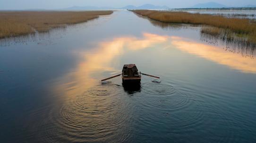
[(73, 10), (81, 10), (81, 9), (168, 9), (169, 7), (167, 6), (155, 6), (152, 4), (145, 4), (142, 6), (133, 6), (133, 5), (128, 5), (122, 8), (112, 8), (112, 7), (94, 7), (94, 6), (85, 6), (85, 7), (78, 7), (78, 6), (73, 6), (70, 8), (64, 8), (64, 9), (73, 9)]

